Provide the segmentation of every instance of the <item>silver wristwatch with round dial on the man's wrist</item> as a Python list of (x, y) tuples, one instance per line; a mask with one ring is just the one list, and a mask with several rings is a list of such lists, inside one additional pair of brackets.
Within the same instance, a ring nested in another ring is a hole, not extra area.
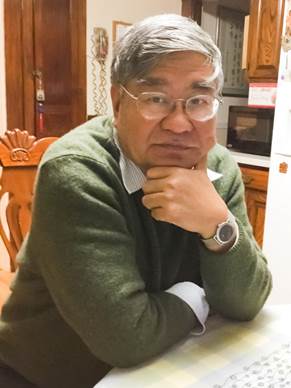
[(228, 212), (227, 220), (217, 225), (214, 236), (201, 241), (210, 251), (225, 253), (233, 247), (237, 234), (235, 217)]

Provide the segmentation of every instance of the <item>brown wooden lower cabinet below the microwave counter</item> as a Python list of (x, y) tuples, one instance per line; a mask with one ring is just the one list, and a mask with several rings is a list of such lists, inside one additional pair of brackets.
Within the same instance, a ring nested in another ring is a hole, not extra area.
[(264, 167), (240, 165), (245, 198), (254, 236), (262, 247), (269, 171)]

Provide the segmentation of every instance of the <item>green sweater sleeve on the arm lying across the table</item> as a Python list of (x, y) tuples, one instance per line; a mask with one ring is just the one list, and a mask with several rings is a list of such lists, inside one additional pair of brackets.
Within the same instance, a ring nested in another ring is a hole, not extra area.
[(27, 251), (59, 313), (90, 351), (127, 367), (200, 325), (176, 295), (146, 292), (117, 194), (120, 182), (107, 169), (76, 156), (42, 165)]

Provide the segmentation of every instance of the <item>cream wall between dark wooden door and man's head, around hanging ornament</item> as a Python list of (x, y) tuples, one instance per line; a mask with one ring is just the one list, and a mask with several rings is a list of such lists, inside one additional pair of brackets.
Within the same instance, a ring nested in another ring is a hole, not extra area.
[(112, 21), (118, 20), (134, 23), (138, 20), (160, 13), (181, 14), (181, 0), (87, 0), (87, 111), (88, 115), (94, 115), (93, 89), (92, 89), (92, 65), (90, 60), (91, 35), (94, 27), (102, 27), (107, 30), (109, 37), (109, 55), (107, 59), (107, 106), (111, 113), (109, 98), (110, 63), (112, 58)]

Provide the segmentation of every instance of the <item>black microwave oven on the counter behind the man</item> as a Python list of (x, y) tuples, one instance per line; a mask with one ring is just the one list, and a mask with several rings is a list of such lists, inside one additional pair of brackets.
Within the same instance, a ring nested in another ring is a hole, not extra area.
[(230, 106), (226, 147), (238, 152), (271, 153), (274, 109)]

